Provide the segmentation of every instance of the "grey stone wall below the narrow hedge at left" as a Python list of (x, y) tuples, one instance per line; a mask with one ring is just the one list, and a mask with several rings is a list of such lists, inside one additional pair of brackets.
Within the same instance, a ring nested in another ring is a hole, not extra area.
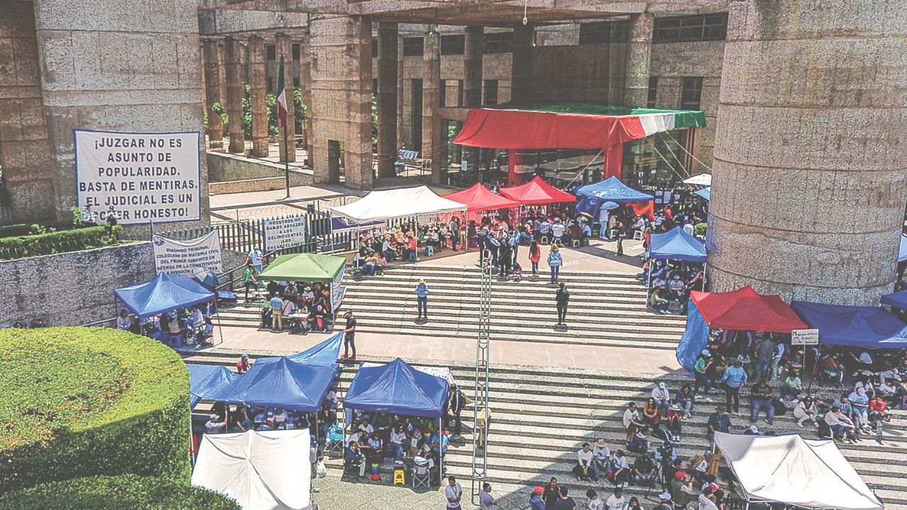
[[(246, 256), (223, 250), (223, 269)], [(73, 326), (115, 316), (113, 289), (154, 278), (151, 243), (138, 242), (0, 261), (0, 327), (44, 319), (51, 326)], [(117, 303), (116, 306), (122, 304)]]

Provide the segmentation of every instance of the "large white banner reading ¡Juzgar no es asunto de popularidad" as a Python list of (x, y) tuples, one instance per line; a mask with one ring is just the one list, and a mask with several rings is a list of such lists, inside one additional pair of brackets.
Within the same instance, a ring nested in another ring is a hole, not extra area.
[(125, 225), (201, 219), (198, 132), (74, 131), (79, 207)]

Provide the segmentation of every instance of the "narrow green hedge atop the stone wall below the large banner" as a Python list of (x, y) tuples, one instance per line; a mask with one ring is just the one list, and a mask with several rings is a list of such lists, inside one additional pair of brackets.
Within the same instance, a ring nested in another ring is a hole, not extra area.
[(59, 230), (45, 234), (0, 239), (0, 260), (22, 259), (67, 251), (112, 246), (122, 236), (120, 225), (102, 225), (83, 229)]

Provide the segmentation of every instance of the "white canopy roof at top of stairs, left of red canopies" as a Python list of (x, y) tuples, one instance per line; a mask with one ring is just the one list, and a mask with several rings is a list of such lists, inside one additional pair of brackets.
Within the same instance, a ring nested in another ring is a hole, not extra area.
[(361, 222), (466, 211), (466, 206), (438, 196), (434, 191), (428, 189), (428, 186), (419, 186), (418, 188), (372, 191), (357, 201), (333, 207), (331, 211), (350, 220)]

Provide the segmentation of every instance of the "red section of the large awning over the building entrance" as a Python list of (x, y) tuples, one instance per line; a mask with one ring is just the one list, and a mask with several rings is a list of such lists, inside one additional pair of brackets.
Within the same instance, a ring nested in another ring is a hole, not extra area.
[(473, 108), (453, 143), (493, 149), (608, 149), (645, 137), (639, 116)]

